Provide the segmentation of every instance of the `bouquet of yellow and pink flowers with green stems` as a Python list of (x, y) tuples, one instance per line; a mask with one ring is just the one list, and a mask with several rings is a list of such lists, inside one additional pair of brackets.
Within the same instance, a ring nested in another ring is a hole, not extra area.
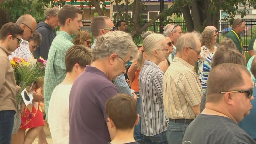
[(17, 104), (23, 102), (21, 92), (26, 86), (31, 85), (34, 81), (42, 79), (45, 73), (46, 60), (38, 58), (37, 63), (34, 65), (26, 59), (14, 57), (11, 60), (13, 67), (16, 84), (21, 87), (21, 90), (16, 94)]

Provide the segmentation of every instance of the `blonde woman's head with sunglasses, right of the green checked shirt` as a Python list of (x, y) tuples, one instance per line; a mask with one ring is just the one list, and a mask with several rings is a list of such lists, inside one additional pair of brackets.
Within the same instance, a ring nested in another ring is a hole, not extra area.
[(74, 45), (84, 45), (85, 47), (90, 48), (90, 45), (92, 43), (92, 36), (87, 31), (80, 31), (74, 39), (73, 44)]

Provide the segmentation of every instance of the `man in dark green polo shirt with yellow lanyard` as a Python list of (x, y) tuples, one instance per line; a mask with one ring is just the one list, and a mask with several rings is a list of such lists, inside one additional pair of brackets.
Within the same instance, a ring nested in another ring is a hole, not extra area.
[(243, 43), (240, 37), (240, 34), (242, 34), (244, 31), (245, 31), (245, 21), (241, 18), (238, 18), (234, 20), (232, 25), (232, 30), (226, 34), (226, 37), (234, 41), (234, 43), (236, 44), (236, 48), (245, 57)]

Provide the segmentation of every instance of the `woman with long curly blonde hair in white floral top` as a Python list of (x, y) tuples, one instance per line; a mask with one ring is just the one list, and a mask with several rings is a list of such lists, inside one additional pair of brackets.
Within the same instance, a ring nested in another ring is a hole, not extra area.
[(202, 39), (201, 39), (202, 47), (201, 47), (201, 53), (200, 53), (201, 58), (199, 59), (198, 65), (196, 66), (196, 69), (198, 68), (196, 72), (200, 82), (201, 82), (202, 72), (203, 72), (203, 63), (210, 53), (216, 51), (215, 43), (217, 39), (217, 35), (215, 31), (212, 29), (204, 29), (201, 36), (202, 36)]

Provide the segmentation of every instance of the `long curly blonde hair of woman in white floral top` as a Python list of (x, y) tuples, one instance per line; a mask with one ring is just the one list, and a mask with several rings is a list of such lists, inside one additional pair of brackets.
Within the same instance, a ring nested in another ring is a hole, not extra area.
[(205, 29), (201, 33), (201, 45), (206, 46), (211, 52), (214, 50), (215, 43), (213, 42), (213, 33), (215, 33), (212, 29)]

